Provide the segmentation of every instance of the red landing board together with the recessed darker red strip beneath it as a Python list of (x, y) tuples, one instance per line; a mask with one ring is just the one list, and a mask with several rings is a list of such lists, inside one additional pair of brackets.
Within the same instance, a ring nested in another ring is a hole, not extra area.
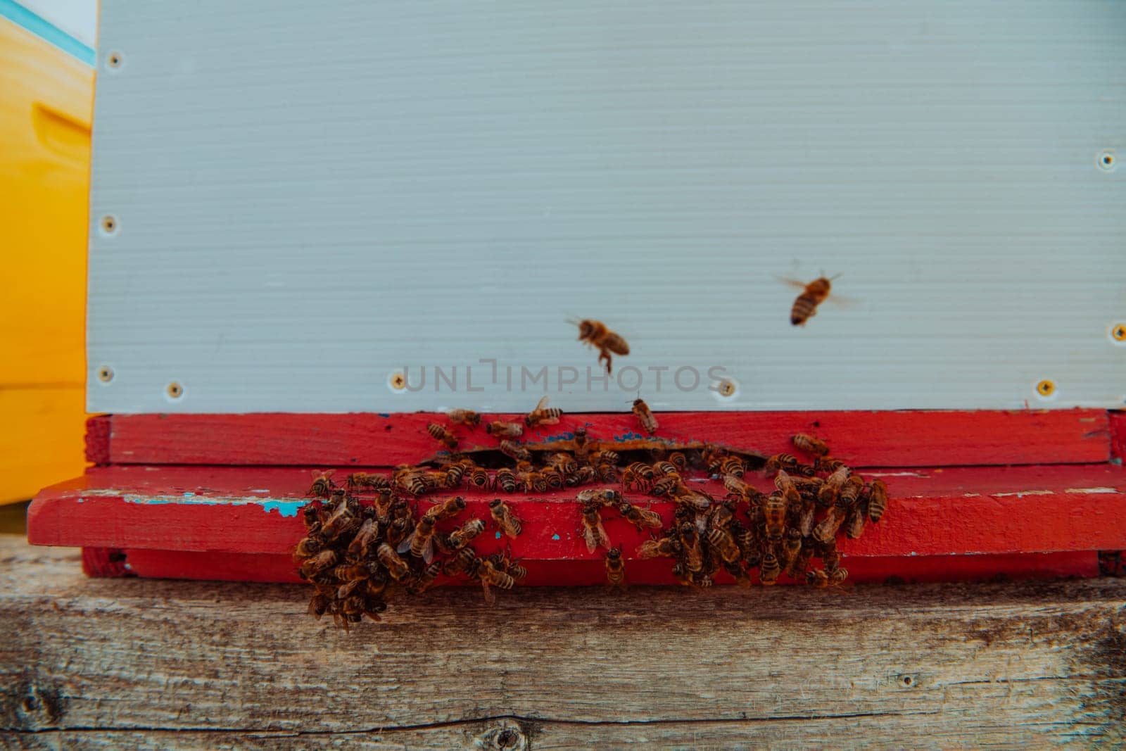
[[(1037, 571), (1093, 575), (1094, 551), (1126, 548), (1126, 471), (1114, 464), (861, 473), (882, 476), (892, 497), (878, 525), (869, 525), (859, 539), (840, 540), (847, 567), (863, 572), (861, 580)], [(762, 477), (749, 479), (768, 488)], [(288, 554), (302, 536), (300, 508), (309, 480), (307, 468), (291, 467), (96, 467), (37, 497), (28, 511), (28, 538), (39, 545), (125, 549), (126, 570), (143, 575), (289, 581)], [(723, 494), (714, 483), (700, 488)], [(589, 553), (580, 539), (574, 492), (506, 495), (524, 533), (515, 540), (493, 536), (475, 547), (488, 554), (510, 543), (529, 570), (528, 583), (601, 581), (600, 553)], [(452, 524), (489, 518), (493, 493), (458, 493), (467, 508)], [(627, 497), (649, 504), (644, 497)], [(440, 498), (419, 506), (428, 508)], [(651, 506), (671, 519), (670, 503)], [(606, 529), (631, 562), (632, 580), (671, 581), (668, 561), (634, 560), (645, 536), (614, 517), (607, 515)], [(486, 534), (493, 530), (490, 526)], [(92, 551), (89, 555), (96, 557)], [(977, 556), (1008, 556), (1008, 567), (999, 567), (1001, 558), (978, 566)], [(223, 575), (224, 565), (239, 561), (244, 575)]]

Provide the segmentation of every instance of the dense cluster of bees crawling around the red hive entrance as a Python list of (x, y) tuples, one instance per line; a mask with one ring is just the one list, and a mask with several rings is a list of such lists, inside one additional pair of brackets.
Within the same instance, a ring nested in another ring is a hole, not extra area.
[[(642, 400), (633, 411), (646, 432), (655, 432), (658, 422)], [(488, 527), (509, 540), (520, 535), (520, 519), (502, 498), (489, 503), (488, 518), (459, 519), (466, 512), (461, 495), (418, 508), (425, 495), (463, 486), (491, 493), (545, 493), (613, 484), (581, 489), (575, 500), (583, 543), (590, 553), (606, 551), (606, 581), (615, 588), (625, 588), (627, 580), (623, 551), (613, 545), (604, 525), (615, 515), (649, 535), (636, 557), (669, 558), (673, 576), (685, 585), (711, 587), (717, 574), (726, 572), (750, 587), (757, 570), (763, 585), (775, 584), (785, 572), (795, 581), (832, 587), (848, 576), (840, 566), (839, 535), (859, 537), (866, 524), (879, 521), (887, 506), (883, 481), (866, 482), (829, 456), (823, 441), (806, 435), (794, 436), (793, 442), (807, 455), (807, 463), (792, 454), (767, 458), (708, 444), (661, 440), (635, 441), (640, 445), (631, 445), (628, 452), (615, 450), (589, 439), (582, 427), (572, 440), (519, 442), (525, 428), (556, 423), (561, 414), (547, 408), (545, 399), (521, 422), (486, 423), (486, 432), (498, 441), (495, 449), (466, 453), (456, 453), (459, 439), (452, 426), (431, 423), (427, 432), (448, 454), (395, 467), (390, 474), (352, 473), (343, 488), (333, 482), (333, 471), (315, 472), (309, 494), (318, 500), (305, 506), (306, 535), (295, 553), (301, 576), (315, 587), (310, 613), (318, 618), (331, 614), (347, 628), (365, 615), (378, 620), (388, 599), (422, 592), (439, 575), (480, 583), (489, 602), (494, 600), (494, 588), (511, 589), (524, 579), (527, 571), (510, 548), (481, 555), (471, 544)], [(455, 410), (449, 418), (453, 426), (470, 429), (482, 422), (470, 410)], [(759, 471), (772, 479), (771, 492), (749, 482), (749, 475)], [(708, 479), (722, 483), (726, 494), (706, 492)], [(625, 493), (631, 492), (671, 502), (672, 518), (643, 508), (636, 497), (627, 499)]]

